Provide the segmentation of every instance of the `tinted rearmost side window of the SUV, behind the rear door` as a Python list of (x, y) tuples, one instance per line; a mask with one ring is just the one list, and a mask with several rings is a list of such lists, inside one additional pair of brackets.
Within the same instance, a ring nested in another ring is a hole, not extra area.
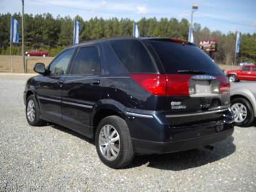
[(157, 72), (148, 51), (139, 40), (110, 40), (109, 43), (129, 73)]

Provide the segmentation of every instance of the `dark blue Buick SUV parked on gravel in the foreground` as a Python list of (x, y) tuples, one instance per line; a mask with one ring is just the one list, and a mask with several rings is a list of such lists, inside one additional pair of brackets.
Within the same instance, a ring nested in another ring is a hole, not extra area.
[(60, 124), (95, 140), (111, 168), (134, 154), (203, 147), (234, 131), (230, 83), (196, 45), (116, 37), (64, 49), (26, 84), (30, 125)]

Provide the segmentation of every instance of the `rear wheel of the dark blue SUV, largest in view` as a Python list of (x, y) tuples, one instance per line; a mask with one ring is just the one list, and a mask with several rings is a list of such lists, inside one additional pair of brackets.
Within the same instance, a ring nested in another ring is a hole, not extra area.
[(119, 116), (107, 116), (100, 121), (95, 145), (100, 160), (111, 168), (127, 166), (134, 157), (128, 126)]

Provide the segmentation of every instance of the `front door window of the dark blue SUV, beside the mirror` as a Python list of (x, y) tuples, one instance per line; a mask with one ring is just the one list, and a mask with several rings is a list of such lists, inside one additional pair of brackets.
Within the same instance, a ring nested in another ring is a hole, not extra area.
[(70, 62), (74, 51), (75, 49), (70, 49), (62, 52), (54, 61), (52, 61), (49, 68), (51, 76), (66, 74), (68, 63)]

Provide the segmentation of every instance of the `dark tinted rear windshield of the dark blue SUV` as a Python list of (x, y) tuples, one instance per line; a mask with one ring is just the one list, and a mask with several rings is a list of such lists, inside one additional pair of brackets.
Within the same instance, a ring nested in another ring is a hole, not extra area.
[(150, 44), (157, 52), (166, 74), (193, 70), (211, 76), (225, 76), (220, 67), (195, 45), (170, 40), (150, 40)]

